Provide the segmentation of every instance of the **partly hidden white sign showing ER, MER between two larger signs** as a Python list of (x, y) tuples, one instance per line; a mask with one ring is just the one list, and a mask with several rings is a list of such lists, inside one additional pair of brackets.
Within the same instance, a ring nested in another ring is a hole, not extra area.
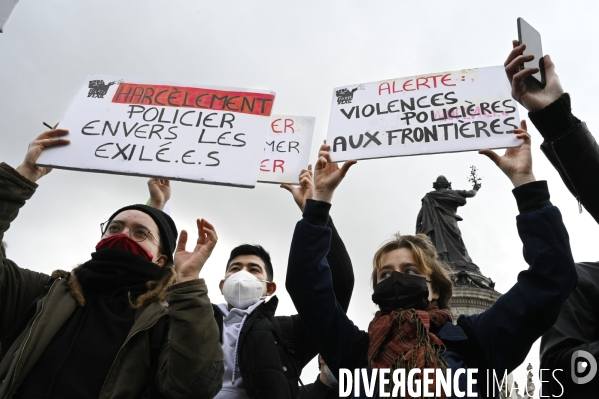
[(314, 120), (311, 116), (271, 116), (258, 181), (299, 184), (299, 174), (310, 161)]

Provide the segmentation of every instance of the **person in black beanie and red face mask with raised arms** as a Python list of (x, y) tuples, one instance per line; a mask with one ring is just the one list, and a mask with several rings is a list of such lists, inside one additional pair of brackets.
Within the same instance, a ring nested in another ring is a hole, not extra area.
[[(0, 241), (50, 171), (35, 164), (40, 153), (67, 133), (39, 136), (16, 169), (0, 164)], [(126, 206), (102, 223), (90, 260), (52, 276), (2, 251), (0, 397), (214, 397), (223, 354), (199, 273), (218, 238), (206, 220), (197, 227), (188, 252), (170, 216)]]

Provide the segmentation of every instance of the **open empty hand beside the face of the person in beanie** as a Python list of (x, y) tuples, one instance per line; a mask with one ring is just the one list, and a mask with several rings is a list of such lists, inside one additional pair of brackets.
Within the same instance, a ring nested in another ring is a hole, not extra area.
[(181, 231), (177, 249), (175, 250), (175, 271), (177, 282), (195, 280), (199, 278), (200, 271), (212, 254), (218, 237), (214, 226), (205, 219), (197, 220), (198, 240), (192, 252), (185, 250), (187, 244), (187, 231)]

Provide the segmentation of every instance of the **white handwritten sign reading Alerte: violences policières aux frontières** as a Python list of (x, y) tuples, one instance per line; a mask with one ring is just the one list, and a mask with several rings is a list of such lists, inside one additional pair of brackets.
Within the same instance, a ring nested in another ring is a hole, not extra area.
[(517, 147), (520, 117), (504, 67), (465, 69), (338, 87), (331, 159)]

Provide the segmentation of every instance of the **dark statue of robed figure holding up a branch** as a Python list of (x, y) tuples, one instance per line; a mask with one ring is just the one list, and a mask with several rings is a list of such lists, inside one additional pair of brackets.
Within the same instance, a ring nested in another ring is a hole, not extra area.
[(474, 166), (468, 180), (473, 183), (472, 190), (453, 190), (445, 176), (437, 177), (437, 181), (433, 183), (435, 191), (422, 198), (422, 208), (416, 220), (416, 233), (429, 236), (440, 259), (454, 269), (480, 273), (478, 266), (468, 255), (458, 227), (458, 221), (463, 219), (456, 213), (459, 206), (466, 205), (466, 198), (474, 197), (481, 187), (481, 179), (476, 176)]

